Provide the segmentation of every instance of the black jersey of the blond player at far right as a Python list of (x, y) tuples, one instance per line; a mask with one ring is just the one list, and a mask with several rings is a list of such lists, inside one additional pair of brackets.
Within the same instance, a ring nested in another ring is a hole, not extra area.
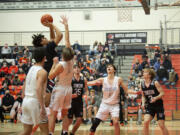
[(154, 103), (150, 103), (152, 97), (156, 97), (156, 96), (159, 95), (159, 91), (157, 90), (157, 88), (155, 86), (155, 80), (153, 80), (151, 82), (149, 87), (146, 87), (145, 81), (142, 81), (141, 87), (142, 87), (142, 91), (143, 91), (144, 97), (146, 99), (146, 102), (145, 102), (146, 105), (150, 105), (150, 106), (156, 106), (156, 105), (157, 106), (163, 106), (163, 100), (162, 99), (159, 99), (159, 100), (157, 100)]

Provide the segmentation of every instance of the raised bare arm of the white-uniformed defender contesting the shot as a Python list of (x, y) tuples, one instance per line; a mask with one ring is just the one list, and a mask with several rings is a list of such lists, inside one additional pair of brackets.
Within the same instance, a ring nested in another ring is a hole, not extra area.
[(65, 27), (65, 45), (66, 47), (71, 48), (71, 44), (69, 41), (69, 27), (68, 27), (68, 19), (66, 16), (61, 16), (61, 23)]

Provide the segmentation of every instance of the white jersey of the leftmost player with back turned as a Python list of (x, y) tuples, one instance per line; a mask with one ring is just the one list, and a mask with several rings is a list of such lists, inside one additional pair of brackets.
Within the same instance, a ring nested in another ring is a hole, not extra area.
[(36, 83), (37, 83), (37, 72), (43, 69), (41, 66), (32, 66), (26, 77), (25, 96), (37, 98), (36, 94)]

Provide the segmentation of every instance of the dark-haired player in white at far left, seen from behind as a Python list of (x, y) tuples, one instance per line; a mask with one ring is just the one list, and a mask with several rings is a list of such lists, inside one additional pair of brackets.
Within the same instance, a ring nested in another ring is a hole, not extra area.
[(47, 85), (47, 72), (43, 69), (46, 50), (42, 47), (34, 50), (36, 64), (27, 74), (23, 90), (25, 96), (22, 103), (22, 118), (24, 132), (30, 135), (33, 125), (39, 125), (41, 133), (48, 135), (48, 118), (45, 111), (44, 93)]

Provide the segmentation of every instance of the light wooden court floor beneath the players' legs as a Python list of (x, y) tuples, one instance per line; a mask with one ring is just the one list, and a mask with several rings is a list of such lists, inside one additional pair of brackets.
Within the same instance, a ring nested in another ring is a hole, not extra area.
[[(62, 124), (56, 124), (55, 135), (60, 135), (61, 126)], [(82, 124), (76, 135), (88, 135), (90, 126)], [(180, 121), (166, 121), (166, 126), (170, 135), (180, 135)], [(136, 125), (133, 121), (126, 126), (121, 126), (121, 135), (143, 135), (142, 129), (142, 125)], [(22, 130), (21, 123), (0, 123), (0, 135), (19, 135)], [(113, 134), (113, 127), (109, 126), (109, 122), (101, 123), (96, 132), (96, 135)], [(40, 131), (38, 130), (34, 135), (40, 135)], [(161, 135), (157, 124), (150, 125), (150, 135)]]

